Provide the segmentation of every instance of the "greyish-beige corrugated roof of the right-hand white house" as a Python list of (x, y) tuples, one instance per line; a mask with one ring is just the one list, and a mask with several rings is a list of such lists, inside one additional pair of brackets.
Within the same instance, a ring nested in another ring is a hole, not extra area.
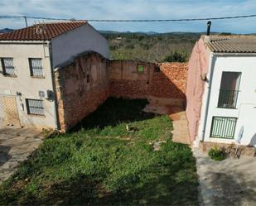
[(256, 36), (210, 36), (206, 45), (212, 52), (256, 53)]

